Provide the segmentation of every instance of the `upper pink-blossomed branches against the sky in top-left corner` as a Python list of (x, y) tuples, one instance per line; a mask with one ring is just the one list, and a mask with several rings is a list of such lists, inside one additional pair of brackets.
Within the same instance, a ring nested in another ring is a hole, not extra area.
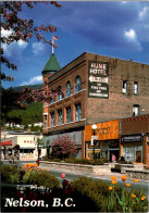
[[(42, 32), (53, 33), (57, 32), (57, 27), (48, 24), (47, 26), (35, 26), (34, 20), (23, 20), (18, 16), (18, 13), (22, 12), (23, 5), (26, 5), (28, 9), (33, 9), (35, 4), (41, 3), (37, 1), (2, 1), (1, 4), (1, 29), (9, 30), (10, 35), (1, 37), (1, 43), (10, 45), (14, 41), (25, 41), (28, 42), (30, 38), (35, 35), (38, 41), (44, 40), (46, 43), (52, 45), (57, 48), (57, 43), (47, 40)], [(61, 8), (61, 4), (57, 1), (45, 1), (42, 3), (53, 4), (57, 8)], [(1, 47), (1, 62), (5, 64), (9, 68), (17, 70), (17, 66), (10, 62), (4, 55), (4, 50)], [(13, 77), (7, 76), (4, 72), (1, 73), (1, 79), (3, 80), (14, 80)]]

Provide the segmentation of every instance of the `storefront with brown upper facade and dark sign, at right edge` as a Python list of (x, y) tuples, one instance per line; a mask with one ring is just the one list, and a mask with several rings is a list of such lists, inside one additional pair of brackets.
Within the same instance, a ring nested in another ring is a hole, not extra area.
[(123, 118), (121, 126), (121, 155), (133, 163), (149, 165), (149, 114)]

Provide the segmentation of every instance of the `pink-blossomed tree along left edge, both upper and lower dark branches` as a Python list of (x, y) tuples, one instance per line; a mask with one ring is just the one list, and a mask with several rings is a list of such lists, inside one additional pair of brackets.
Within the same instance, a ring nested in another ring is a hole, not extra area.
[[(57, 8), (61, 8), (61, 4), (57, 1), (45, 1), (45, 2), (36, 2), (36, 1), (2, 1), (1, 5), (1, 29), (9, 30), (10, 35), (1, 36), (1, 43), (10, 45), (14, 41), (22, 40), (24, 42), (28, 42), (30, 38), (36, 36), (37, 40), (42, 40), (46, 43), (49, 43), (57, 48), (57, 43), (52, 43), (51, 40), (47, 40), (42, 33), (53, 33), (57, 32), (57, 27), (48, 24), (47, 26), (35, 26), (33, 20), (23, 20), (20, 17), (20, 12), (22, 12), (23, 5), (26, 5), (28, 9), (33, 9), (37, 3), (46, 3), (52, 4)], [(17, 70), (17, 65), (10, 62), (4, 57), (4, 49), (1, 47), (1, 63), (7, 67), (12, 70)], [(1, 72), (2, 80), (14, 80), (13, 77), (7, 76), (4, 71)], [(8, 112), (12, 109), (18, 109), (21, 106), (25, 108), (26, 105), (22, 104), (22, 102), (33, 102), (33, 101), (44, 101), (45, 99), (51, 99), (54, 96), (54, 92), (47, 92), (45, 89), (34, 90), (29, 88), (25, 88), (22, 91), (13, 91), (12, 89), (4, 90), (1, 89), (1, 111), (2, 111), (2, 120), (8, 122)]]

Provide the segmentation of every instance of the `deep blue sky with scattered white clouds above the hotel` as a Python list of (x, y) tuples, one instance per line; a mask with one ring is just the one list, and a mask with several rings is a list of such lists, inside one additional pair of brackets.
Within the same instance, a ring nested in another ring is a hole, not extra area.
[[(61, 67), (84, 52), (149, 64), (149, 1), (60, 1), (62, 8), (37, 3), (23, 8), (20, 16), (33, 18), (36, 26), (57, 26), (54, 54)], [(9, 32), (1, 32), (7, 35)], [(52, 39), (51, 33), (46, 37)], [(5, 57), (17, 71), (2, 70), (14, 77), (5, 88), (42, 84), (41, 71), (52, 48), (36, 38), (2, 45)]]

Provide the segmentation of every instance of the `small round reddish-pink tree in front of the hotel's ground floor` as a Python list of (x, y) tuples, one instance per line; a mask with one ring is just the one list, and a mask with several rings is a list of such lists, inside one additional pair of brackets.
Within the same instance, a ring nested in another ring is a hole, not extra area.
[(52, 152), (54, 158), (65, 159), (70, 155), (76, 155), (76, 143), (70, 138), (69, 134), (64, 136), (58, 136), (52, 142)]

